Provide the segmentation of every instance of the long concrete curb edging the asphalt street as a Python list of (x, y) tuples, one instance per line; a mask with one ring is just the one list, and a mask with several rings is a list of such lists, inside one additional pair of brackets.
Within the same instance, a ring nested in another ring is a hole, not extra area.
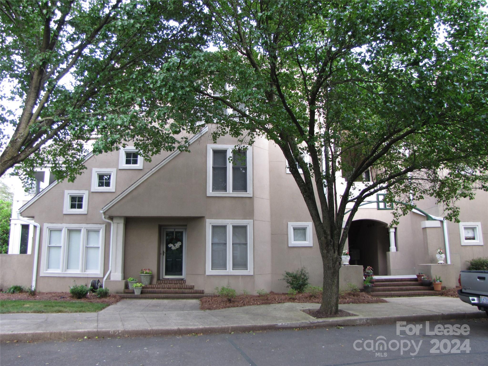
[(425, 321), (446, 321), (453, 319), (479, 319), (485, 318), (484, 312), (455, 312), (438, 314), (418, 314), (399, 316), (379, 317), (342, 317), (332, 319), (317, 319), (306, 322), (293, 323), (272, 323), (272, 324), (249, 324), (249, 325), (210, 325), (210, 326), (182, 326), (172, 328), (148, 328), (148, 329), (99, 329), (99, 330), (54, 330), (36, 332), (0, 333), (1, 342), (26, 342), (26, 341), (49, 341), (62, 339), (79, 339), (95, 337), (150, 337), (159, 335), (188, 335), (188, 334), (209, 334), (209, 333), (238, 333), (259, 330), (283, 330), (283, 329), (306, 329), (325, 328), (344, 325), (380, 325), (393, 324), (396, 322), (425, 322)]

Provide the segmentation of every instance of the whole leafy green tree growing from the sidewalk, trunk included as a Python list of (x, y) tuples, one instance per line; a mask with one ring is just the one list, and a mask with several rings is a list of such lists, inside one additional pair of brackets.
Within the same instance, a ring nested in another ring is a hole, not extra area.
[[(367, 197), (387, 192), (406, 211), (428, 195), (455, 218), (457, 199), (487, 189), (483, 2), (204, 4), (218, 49), (176, 55), (154, 75), (166, 117), (281, 148), (317, 232), (322, 311), (338, 309), (340, 256)], [(357, 184), (366, 172), (372, 182)]]

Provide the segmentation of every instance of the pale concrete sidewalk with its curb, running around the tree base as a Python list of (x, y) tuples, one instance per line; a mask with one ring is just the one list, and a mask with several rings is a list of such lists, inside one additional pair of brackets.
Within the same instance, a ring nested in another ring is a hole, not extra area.
[(442, 296), (388, 298), (382, 304), (339, 305), (356, 316), (315, 319), (319, 304), (286, 303), (200, 310), (198, 300), (122, 300), (98, 313), (1, 314), (0, 340), (229, 333), (336, 325), (484, 318), (484, 311)]

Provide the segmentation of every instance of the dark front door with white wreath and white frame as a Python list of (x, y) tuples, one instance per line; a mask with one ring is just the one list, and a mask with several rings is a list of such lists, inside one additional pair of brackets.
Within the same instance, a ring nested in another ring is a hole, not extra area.
[(184, 278), (186, 255), (186, 229), (163, 227), (162, 270), (163, 278)]

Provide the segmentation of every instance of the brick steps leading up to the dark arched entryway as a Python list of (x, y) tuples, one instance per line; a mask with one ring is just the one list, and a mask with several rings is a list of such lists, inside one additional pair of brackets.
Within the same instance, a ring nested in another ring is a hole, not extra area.
[[(374, 279), (371, 296), (439, 296), (442, 291), (434, 291), (434, 286), (423, 286), (416, 278), (378, 278)], [(442, 289), (446, 287), (443, 286)]]

